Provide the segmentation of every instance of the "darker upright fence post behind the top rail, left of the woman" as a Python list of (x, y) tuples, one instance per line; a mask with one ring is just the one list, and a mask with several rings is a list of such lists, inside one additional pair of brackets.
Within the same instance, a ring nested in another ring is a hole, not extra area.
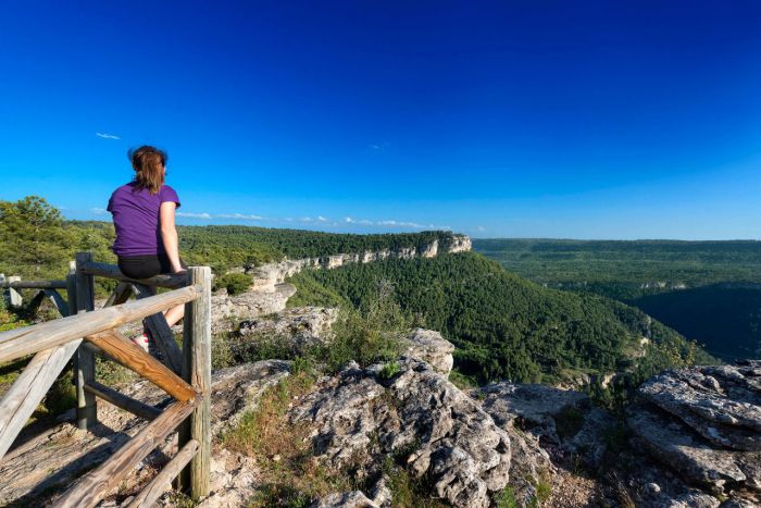
[[(76, 313), (95, 310), (95, 277), (83, 273), (79, 267), (92, 261), (92, 252), (76, 253), (76, 272), (74, 273), (74, 300)], [(71, 277), (71, 275), (70, 275)], [(90, 349), (79, 347), (74, 360), (74, 382), (76, 384), (76, 421), (77, 428), (91, 429), (98, 421), (96, 396), (85, 389), (88, 382), (95, 381), (95, 355)]]

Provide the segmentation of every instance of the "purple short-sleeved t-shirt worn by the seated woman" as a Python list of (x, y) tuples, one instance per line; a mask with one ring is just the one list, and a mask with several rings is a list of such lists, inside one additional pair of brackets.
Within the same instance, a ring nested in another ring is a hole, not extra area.
[(135, 182), (122, 185), (111, 195), (108, 211), (116, 228), (112, 247), (120, 257), (166, 253), (161, 239), (159, 209), (162, 202), (175, 202), (179, 198), (169, 185), (162, 185), (157, 194), (148, 189), (135, 190)]

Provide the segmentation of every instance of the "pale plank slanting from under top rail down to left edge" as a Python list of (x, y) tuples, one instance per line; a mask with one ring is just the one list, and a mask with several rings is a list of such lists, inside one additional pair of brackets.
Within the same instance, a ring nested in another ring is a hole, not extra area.
[(0, 460), (80, 343), (82, 338), (78, 338), (35, 355), (2, 397), (0, 400)]

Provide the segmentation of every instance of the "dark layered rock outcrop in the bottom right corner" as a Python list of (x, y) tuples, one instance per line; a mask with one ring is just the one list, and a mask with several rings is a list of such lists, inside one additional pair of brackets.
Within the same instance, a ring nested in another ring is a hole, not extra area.
[(638, 396), (627, 424), (656, 460), (707, 493), (761, 503), (761, 361), (668, 371)]

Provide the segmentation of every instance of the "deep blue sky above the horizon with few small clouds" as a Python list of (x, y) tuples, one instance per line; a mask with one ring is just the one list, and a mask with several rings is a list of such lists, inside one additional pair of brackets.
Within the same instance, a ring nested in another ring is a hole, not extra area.
[(0, 0), (0, 199), (186, 224), (761, 238), (754, 1)]

